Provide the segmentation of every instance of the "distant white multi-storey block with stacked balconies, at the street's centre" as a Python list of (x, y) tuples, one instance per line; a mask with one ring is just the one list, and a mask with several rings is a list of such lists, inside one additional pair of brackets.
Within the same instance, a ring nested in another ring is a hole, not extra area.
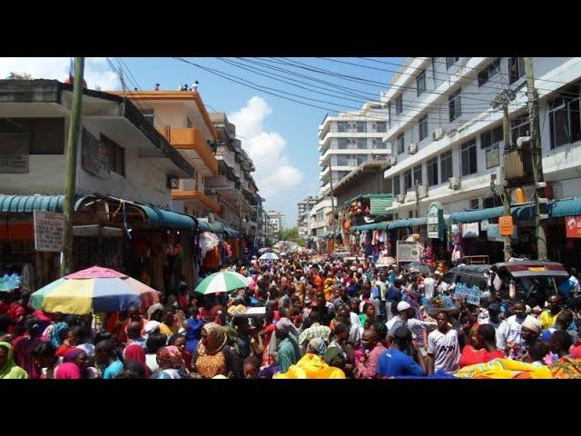
[(320, 193), (330, 193), (330, 178), (343, 177), (370, 160), (385, 160), (391, 150), (383, 142), (388, 129), (388, 111), (379, 102), (369, 102), (358, 112), (327, 115), (319, 126)]

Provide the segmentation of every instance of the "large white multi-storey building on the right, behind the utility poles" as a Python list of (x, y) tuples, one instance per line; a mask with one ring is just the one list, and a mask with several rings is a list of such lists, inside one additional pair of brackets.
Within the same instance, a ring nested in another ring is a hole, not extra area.
[[(545, 181), (554, 198), (581, 192), (581, 58), (533, 59)], [(527, 84), (521, 57), (409, 58), (382, 101), (385, 141), (392, 151), (389, 180), (394, 219), (420, 216), (438, 201), (445, 213), (493, 205), (491, 177), (502, 175), (502, 108), (490, 104), (502, 89), (516, 91), (509, 106), (512, 143), (529, 134)]]

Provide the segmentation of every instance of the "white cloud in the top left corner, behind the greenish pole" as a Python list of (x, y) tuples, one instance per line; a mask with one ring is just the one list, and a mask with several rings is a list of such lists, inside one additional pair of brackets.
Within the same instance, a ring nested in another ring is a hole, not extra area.
[[(69, 57), (0, 57), (0, 78), (11, 73), (25, 73), (33, 79), (56, 79), (64, 82), (69, 75)], [(94, 89), (119, 89), (119, 79), (104, 57), (87, 57), (84, 61), (84, 80)]]

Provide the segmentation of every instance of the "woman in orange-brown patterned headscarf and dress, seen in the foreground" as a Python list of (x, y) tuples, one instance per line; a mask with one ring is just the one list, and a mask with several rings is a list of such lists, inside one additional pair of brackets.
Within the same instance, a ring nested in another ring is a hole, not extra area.
[(222, 326), (210, 322), (202, 327), (202, 340), (192, 359), (192, 366), (204, 379), (222, 374), (242, 378), (240, 358), (226, 344), (226, 332)]

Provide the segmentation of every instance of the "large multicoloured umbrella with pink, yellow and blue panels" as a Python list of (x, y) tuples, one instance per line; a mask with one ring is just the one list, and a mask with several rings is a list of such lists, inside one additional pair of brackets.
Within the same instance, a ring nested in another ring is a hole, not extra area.
[(86, 315), (120, 312), (132, 304), (145, 311), (159, 302), (157, 292), (123, 272), (93, 266), (49, 283), (30, 296), (34, 309)]

